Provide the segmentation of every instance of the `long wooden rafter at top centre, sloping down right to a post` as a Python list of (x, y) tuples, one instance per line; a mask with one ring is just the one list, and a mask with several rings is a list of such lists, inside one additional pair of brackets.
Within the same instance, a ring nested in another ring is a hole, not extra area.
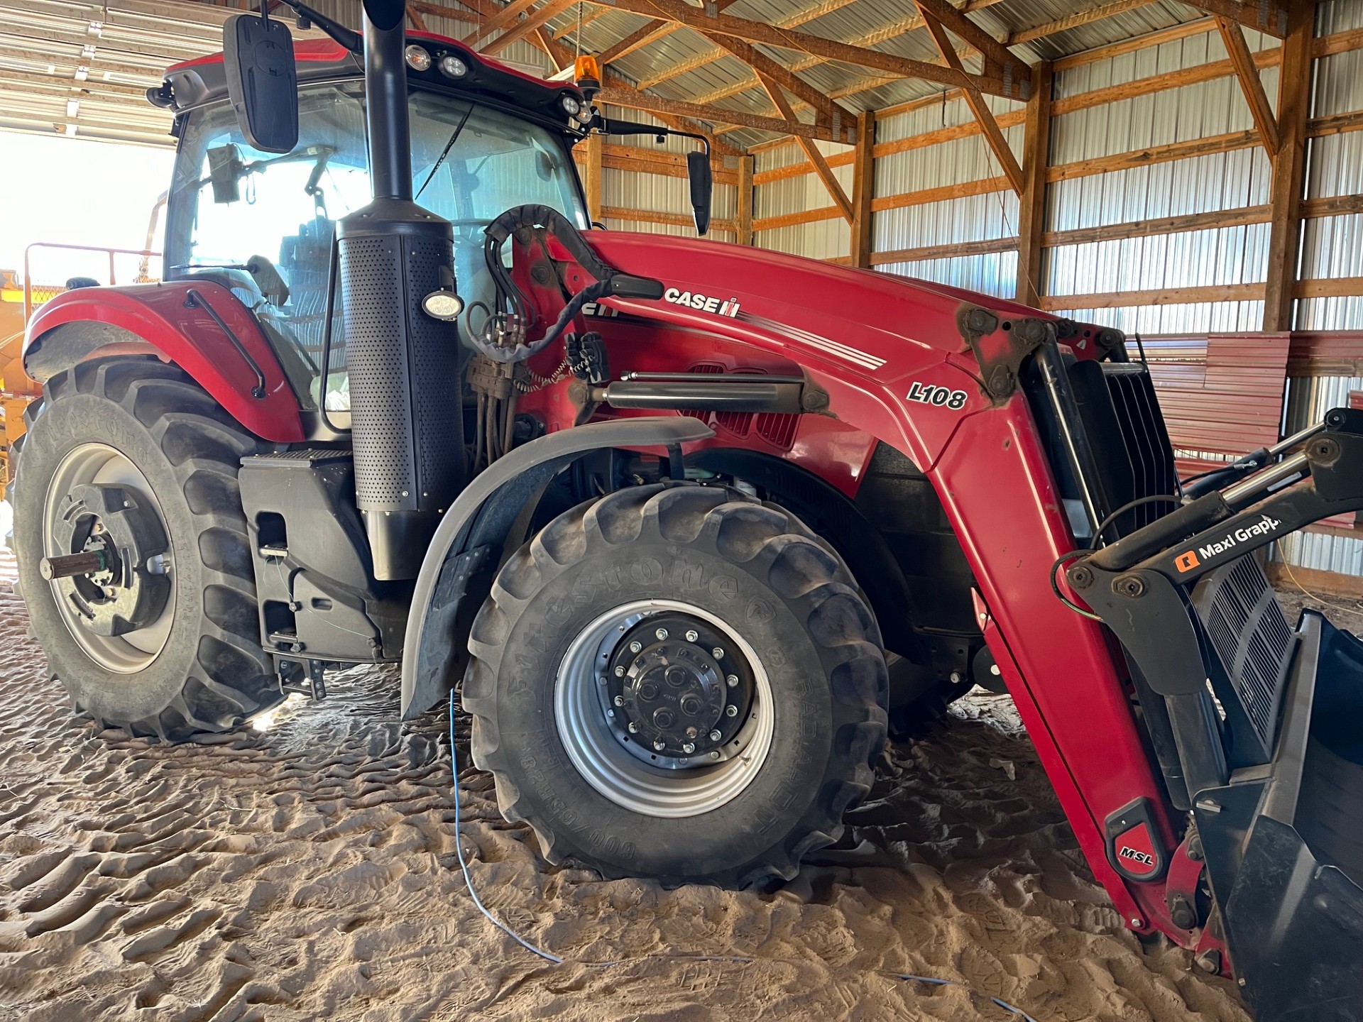
[[(954, 65), (947, 67), (930, 64), (923, 60), (910, 60), (893, 53), (851, 46), (845, 42), (826, 40), (822, 35), (780, 29), (774, 25), (763, 25), (762, 22), (750, 22), (744, 18), (732, 18), (726, 14), (711, 16), (702, 10), (690, 7), (683, 0), (613, 0), (613, 5), (622, 11), (664, 16), (695, 29), (702, 34), (720, 33), (733, 35), (747, 42), (761, 42), (769, 46), (780, 46), (781, 49), (804, 52), (826, 60), (887, 71), (900, 78), (920, 78), (946, 86), (973, 84), (981, 93), (991, 93), (994, 95), (1009, 94), (1000, 79), (968, 74), (961, 67), (960, 60)], [(951, 52), (953, 55), (955, 53), (955, 50)]]

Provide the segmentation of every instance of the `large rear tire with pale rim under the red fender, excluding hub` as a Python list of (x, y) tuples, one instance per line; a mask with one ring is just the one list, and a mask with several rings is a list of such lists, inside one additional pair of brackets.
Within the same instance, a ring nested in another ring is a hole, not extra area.
[[(14, 481), (14, 546), (34, 634), (75, 707), (179, 741), (229, 730), (281, 702), (260, 647), (237, 491), (241, 458), (260, 450), (255, 437), (155, 360), (82, 362), (53, 376), (33, 412)], [(52, 527), (53, 508), (70, 506), (68, 484), (108, 478), (153, 510), (170, 555), (157, 623), (113, 638), (82, 631), (70, 590), (40, 574), (44, 557), (70, 552), (57, 549)]]

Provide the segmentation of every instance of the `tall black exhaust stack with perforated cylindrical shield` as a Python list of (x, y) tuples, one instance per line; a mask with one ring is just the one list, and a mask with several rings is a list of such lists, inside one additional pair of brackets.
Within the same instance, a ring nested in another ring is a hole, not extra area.
[(450, 290), (450, 222), (412, 200), (402, 0), (364, 0), (373, 202), (337, 225), (356, 499), (379, 579), (416, 578), (463, 485), (459, 341), (421, 298)]

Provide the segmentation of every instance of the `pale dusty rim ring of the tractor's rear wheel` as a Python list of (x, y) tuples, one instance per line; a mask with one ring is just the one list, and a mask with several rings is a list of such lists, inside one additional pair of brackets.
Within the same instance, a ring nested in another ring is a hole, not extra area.
[[(42, 553), (53, 557), (59, 553), (70, 553), (57, 548), (57, 522), (61, 518), (61, 501), (72, 486), (86, 482), (110, 484), (134, 491), (140, 500), (150, 506), (165, 527), (165, 514), (161, 501), (157, 500), (147, 477), (142, 474), (132, 461), (121, 451), (102, 443), (87, 443), (72, 448), (61, 459), (57, 470), (48, 484), (48, 496), (42, 511)], [(168, 531), (169, 534), (169, 531)], [(56, 582), (49, 582), (52, 598), (57, 605), (61, 621), (76, 640), (80, 650), (105, 670), (117, 675), (132, 675), (143, 670), (151, 661), (161, 655), (170, 638), (170, 625), (174, 621), (176, 580), (174, 572), (170, 575), (170, 593), (166, 597), (165, 609), (157, 619), (138, 631), (125, 635), (106, 636), (95, 635), (80, 624), (74, 606), (63, 597)]]

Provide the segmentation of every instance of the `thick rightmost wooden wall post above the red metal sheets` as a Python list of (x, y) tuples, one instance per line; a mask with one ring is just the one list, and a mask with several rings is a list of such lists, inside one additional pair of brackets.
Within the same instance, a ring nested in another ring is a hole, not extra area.
[(1311, 37), (1315, 4), (1296, 3), (1288, 10), (1283, 63), (1278, 67), (1278, 140), (1273, 157), (1273, 191), (1269, 198), (1269, 267), (1264, 288), (1264, 330), (1291, 330), (1292, 292), (1302, 248), (1302, 192), (1306, 179), (1306, 124), (1311, 116)]

